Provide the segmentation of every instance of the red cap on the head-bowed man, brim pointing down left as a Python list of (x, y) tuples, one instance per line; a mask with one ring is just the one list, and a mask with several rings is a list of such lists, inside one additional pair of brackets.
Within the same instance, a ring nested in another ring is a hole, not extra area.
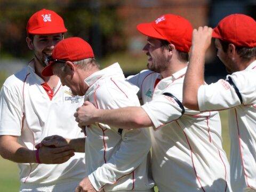
[(45, 77), (52, 76), (52, 65), (58, 60), (80, 61), (86, 58), (94, 58), (92, 47), (89, 43), (79, 37), (63, 39), (55, 45), (52, 51), (53, 61), (43, 69), (42, 75)]

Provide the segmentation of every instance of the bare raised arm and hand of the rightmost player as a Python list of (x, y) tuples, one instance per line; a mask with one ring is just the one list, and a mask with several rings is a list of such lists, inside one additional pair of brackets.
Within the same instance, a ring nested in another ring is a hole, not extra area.
[(212, 28), (199, 27), (193, 30), (191, 55), (183, 84), (183, 105), (199, 110), (197, 92), (204, 84), (205, 52), (211, 44)]

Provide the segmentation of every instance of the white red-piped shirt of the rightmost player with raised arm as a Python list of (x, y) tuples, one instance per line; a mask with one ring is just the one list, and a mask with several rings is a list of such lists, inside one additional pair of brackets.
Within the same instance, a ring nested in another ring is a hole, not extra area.
[(228, 78), (238, 93), (220, 79), (199, 87), (198, 105), (201, 111), (229, 109), (231, 186), (237, 192), (256, 190), (256, 61)]

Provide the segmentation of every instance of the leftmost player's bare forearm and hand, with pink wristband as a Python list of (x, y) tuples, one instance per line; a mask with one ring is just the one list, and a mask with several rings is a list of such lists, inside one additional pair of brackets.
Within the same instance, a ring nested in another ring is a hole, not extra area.
[[(16, 163), (36, 163), (36, 150), (30, 150), (18, 143), (18, 138), (12, 135), (0, 136), (0, 154), (3, 158)], [(74, 156), (74, 150), (69, 147), (45, 147), (38, 151), (39, 159), (44, 164), (60, 164)]]

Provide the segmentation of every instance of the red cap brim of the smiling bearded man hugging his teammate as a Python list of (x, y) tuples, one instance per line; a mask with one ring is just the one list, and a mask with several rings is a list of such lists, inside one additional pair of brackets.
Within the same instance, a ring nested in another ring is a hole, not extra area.
[(160, 35), (157, 30), (152, 26), (152, 23), (140, 23), (137, 25), (137, 30), (140, 31), (143, 35), (158, 38), (158, 39), (165, 39), (162, 35)]

